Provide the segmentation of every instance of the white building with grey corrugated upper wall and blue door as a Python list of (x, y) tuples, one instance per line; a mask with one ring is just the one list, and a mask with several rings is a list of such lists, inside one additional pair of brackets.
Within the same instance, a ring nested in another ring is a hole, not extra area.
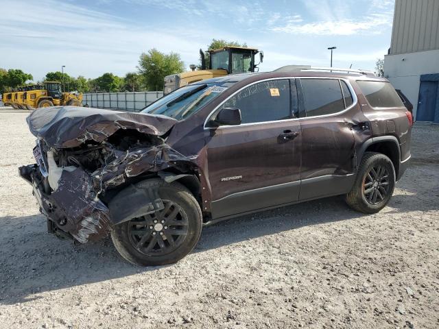
[(439, 0), (396, 0), (384, 76), (413, 104), (416, 121), (439, 123)]

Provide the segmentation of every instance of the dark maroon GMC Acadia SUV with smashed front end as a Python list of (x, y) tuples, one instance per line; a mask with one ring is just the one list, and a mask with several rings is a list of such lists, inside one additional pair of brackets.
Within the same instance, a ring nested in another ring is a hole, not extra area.
[(285, 67), (175, 90), (140, 113), (37, 109), (33, 186), (49, 232), (110, 232), (123, 258), (175, 263), (202, 226), (346, 195), (381, 210), (410, 159), (412, 114), (370, 73)]

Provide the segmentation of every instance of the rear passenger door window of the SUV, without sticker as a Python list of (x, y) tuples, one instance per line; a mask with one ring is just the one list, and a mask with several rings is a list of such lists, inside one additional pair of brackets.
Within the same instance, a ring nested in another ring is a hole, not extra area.
[(301, 79), (307, 117), (344, 110), (340, 82), (337, 79)]

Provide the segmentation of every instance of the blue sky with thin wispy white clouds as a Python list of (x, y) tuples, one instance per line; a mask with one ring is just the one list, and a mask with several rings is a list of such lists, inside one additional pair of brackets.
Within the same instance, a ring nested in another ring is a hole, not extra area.
[[(261, 71), (288, 64), (375, 68), (390, 47), (390, 0), (0, 0), (0, 68), (43, 80), (137, 71), (142, 52), (198, 64), (213, 38), (264, 52)], [(22, 13), (22, 14), (18, 14)]]

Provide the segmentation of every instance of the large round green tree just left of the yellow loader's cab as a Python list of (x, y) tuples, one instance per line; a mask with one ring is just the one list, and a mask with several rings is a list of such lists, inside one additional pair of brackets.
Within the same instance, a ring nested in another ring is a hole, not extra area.
[(137, 69), (144, 77), (147, 90), (163, 90), (165, 76), (185, 71), (185, 63), (178, 53), (165, 54), (157, 49), (150, 49), (141, 54)]

